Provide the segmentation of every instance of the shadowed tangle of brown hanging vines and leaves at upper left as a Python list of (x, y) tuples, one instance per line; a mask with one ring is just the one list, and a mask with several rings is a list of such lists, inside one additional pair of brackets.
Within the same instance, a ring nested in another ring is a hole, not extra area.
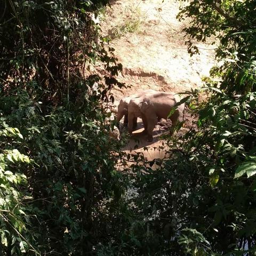
[[(46, 107), (53, 101), (75, 101), (79, 93), (77, 83), (89, 69), (89, 63), (102, 61), (110, 75), (122, 68), (116, 63), (113, 49), (109, 48), (108, 54), (103, 47), (104, 38), (102, 43), (95, 42), (100, 30), (92, 10), (98, 7), (91, 1), (3, 2), (2, 85), (22, 85), (30, 93), (41, 90), (41, 101)], [(110, 87), (113, 82), (108, 80)], [(5, 91), (10, 87), (5, 86)]]

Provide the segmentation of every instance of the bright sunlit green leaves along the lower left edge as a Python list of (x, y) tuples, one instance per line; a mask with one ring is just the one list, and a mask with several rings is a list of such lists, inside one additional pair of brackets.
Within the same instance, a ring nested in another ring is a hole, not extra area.
[[(31, 168), (33, 161), (21, 154), (15, 147), (22, 141), (17, 128), (7, 126), (0, 121), (0, 234), (1, 254), (9, 250), (11, 254), (20, 255), (28, 250), (37, 253), (31, 244), (31, 221), (28, 199), (31, 199), (24, 172)], [(5, 147), (5, 149), (4, 149)]]

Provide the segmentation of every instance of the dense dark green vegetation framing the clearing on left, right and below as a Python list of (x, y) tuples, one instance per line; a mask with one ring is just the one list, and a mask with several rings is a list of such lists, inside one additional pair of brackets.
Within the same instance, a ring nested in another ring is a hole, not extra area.
[(254, 255), (255, 1), (181, 9), (189, 53), (215, 36), (220, 65), (186, 92), (197, 127), (169, 138), (167, 161), (128, 156), (127, 172), (106, 132), (123, 85), (92, 15), (105, 4), (0, 1), (1, 255)]

